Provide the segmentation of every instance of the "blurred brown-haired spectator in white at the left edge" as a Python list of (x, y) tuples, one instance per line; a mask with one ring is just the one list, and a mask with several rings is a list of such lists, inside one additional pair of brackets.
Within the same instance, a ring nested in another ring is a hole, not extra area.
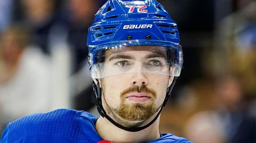
[(0, 132), (22, 116), (52, 110), (48, 58), (30, 45), (26, 28), (0, 35)]

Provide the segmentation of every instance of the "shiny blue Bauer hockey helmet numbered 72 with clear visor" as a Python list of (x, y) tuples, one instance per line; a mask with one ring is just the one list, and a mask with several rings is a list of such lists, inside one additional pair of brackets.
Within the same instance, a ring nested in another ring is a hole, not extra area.
[[(179, 76), (183, 64), (183, 53), (179, 42), (177, 24), (156, 0), (109, 0), (99, 9), (88, 31), (88, 64), (91, 76), (103, 78), (138, 72), (136, 68), (133, 70), (113, 68), (108, 72), (102, 71), (106, 64), (116, 64), (116, 61), (115, 63), (105, 62), (106, 51), (116, 53), (123, 52), (125, 49), (166, 53), (166, 60), (161, 62), (161, 68), (156, 66), (159, 64), (157, 62), (151, 61), (150, 64), (144, 62), (146, 68), (140, 72)], [(125, 63), (119, 63), (119, 66), (120, 64)], [(130, 62), (129, 65), (136, 65), (136, 63)], [(153, 66), (155, 68), (152, 68)], [(129, 69), (132, 68), (129, 67)]]

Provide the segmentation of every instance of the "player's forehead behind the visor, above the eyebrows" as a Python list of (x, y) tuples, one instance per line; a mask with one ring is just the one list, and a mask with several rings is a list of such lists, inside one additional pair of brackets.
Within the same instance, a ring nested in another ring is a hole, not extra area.
[(126, 46), (111, 48), (105, 52), (105, 58), (109, 58), (114, 55), (125, 54), (136, 57), (144, 57), (149, 54), (157, 54), (160, 57), (166, 57), (166, 49), (161, 46)]

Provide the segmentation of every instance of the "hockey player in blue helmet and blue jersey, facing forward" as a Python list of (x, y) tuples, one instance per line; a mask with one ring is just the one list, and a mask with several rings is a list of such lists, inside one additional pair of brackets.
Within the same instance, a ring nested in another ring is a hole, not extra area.
[(156, 0), (109, 0), (87, 38), (92, 102), (101, 117), (59, 109), (8, 124), (1, 143), (191, 143), (159, 133), (160, 113), (180, 76), (177, 24)]

